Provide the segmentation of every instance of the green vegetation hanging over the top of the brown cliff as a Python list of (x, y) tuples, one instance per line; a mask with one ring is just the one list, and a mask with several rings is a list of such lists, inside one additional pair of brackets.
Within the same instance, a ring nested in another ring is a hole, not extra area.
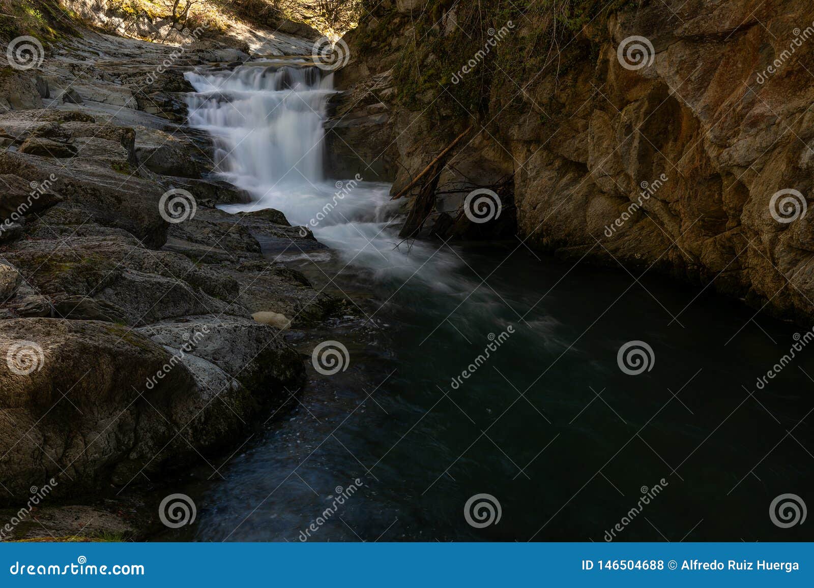
[[(439, 120), (477, 117), (501, 94), (522, 101), (516, 80), (542, 79), (549, 69), (561, 77), (574, 63), (595, 59), (608, 15), (639, 3), (430, 0), (412, 15), (374, 11), (355, 34), (367, 54), (400, 52), (393, 75), (402, 106), (422, 110), (432, 103)], [(403, 45), (393, 47), (398, 37)]]

